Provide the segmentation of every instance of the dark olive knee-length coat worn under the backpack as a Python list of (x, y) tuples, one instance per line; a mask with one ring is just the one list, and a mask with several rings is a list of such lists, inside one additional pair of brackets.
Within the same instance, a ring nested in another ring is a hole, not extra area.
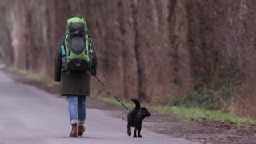
[[(92, 69), (94, 75), (96, 75), (97, 68), (97, 56), (94, 47), (94, 61), (92, 63)], [(90, 95), (90, 74), (87, 73), (62, 73), (62, 50), (57, 48), (55, 54), (55, 73), (54, 80), (60, 82), (59, 93), (62, 96), (74, 94), (80, 96)]]

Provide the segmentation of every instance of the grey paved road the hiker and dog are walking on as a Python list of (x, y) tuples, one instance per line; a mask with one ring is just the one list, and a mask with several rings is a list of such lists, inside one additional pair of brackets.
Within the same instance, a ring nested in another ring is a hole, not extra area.
[(126, 135), (126, 122), (101, 110), (86, 109), (86, 133), (70, 138), (67, 102), (34, 86), (16, 83), (0, 70), (0, 144), (165, 144), (194, 143), (142, 129), (143, 138)]

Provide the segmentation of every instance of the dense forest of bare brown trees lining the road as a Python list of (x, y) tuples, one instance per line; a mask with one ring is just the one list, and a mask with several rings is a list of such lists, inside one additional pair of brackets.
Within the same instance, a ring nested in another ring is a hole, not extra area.
[(2, 0), (4, 61), (53, 78), (66, 20), (78, 14), (98, 76), (121, 98), (256, 118), (256, 1)]

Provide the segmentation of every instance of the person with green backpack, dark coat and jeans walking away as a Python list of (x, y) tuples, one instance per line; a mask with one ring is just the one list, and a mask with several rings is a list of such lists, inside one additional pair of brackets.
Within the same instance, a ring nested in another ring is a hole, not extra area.
[(90, 95), (90, 77), (96, 75), (97, 57), (84, 18), (67, 20), (65, 40), (55, 54), (54, 80), (60, 82), (59, 93), (67, 97), (70, 137), (85, 131), (86, 97)]

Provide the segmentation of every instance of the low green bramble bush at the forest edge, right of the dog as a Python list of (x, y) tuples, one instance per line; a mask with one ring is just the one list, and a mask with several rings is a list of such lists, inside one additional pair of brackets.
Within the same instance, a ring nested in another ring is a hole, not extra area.
[(193, 91), (185, 97), (179, 97), (170, 104), (170, 106), (200, 107), (207, 110), (227, 110), (231, 94), (237, 86), (229, 81), (222, 86), (218, 86), (216, 78), (209, 86), (201, 90)]

